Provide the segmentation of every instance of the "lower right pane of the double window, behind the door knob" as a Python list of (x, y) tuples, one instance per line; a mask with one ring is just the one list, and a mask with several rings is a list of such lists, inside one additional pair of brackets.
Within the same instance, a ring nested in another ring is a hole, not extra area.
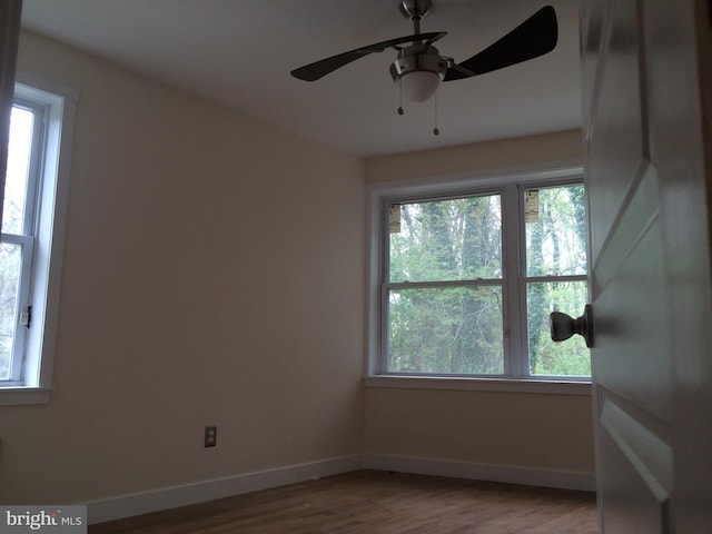
[(551, 338), (548, 314), (578, 317), (587, 301), (585, 281), (527, 284), (530, 373), (532, 375), (591, 376), (591, 352), (581, 336), (564, 343)]

